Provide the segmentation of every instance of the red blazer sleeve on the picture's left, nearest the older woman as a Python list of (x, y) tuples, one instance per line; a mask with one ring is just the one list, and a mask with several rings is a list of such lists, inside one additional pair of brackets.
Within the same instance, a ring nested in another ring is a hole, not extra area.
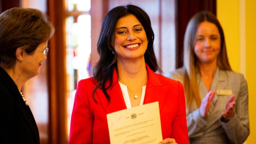
[[(70, 123), (69, 144), (92, 143), (93, 116), (91, 114), (86, 83), (78, 83)], [(90, 92), (89, 92), (90, 94)]]

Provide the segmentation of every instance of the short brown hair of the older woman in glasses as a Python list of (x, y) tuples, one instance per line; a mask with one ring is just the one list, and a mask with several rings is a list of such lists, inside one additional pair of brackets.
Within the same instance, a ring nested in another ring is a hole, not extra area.
[(48, 16), (38, 9), (14, 7), (0, 15), (0, 65), (15, 65), (17, 48), (33, 54), (39, 44), (52, 37)]

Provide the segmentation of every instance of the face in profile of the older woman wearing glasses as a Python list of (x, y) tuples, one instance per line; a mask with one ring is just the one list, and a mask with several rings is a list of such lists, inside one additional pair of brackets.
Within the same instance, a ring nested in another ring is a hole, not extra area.
[(27, 54), (24, 52), (24, 59), (20, 67), (22, 72), (29, 78), (39, 74), (39, 66), (41, 66), (41, 62), (46, 59), (46, 55), (44, 55), (46, 45), (47, 41), (39, 44), (33, 54)]

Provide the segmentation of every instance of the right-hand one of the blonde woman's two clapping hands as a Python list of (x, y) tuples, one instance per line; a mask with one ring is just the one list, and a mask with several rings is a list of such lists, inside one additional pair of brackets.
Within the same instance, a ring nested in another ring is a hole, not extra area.
[(231, 120), (231, 118), (234, 116), (234, 108), (236, 105), (236, 102), (233, 102), (235, 99), (235, 95), (233, 94), (230, 96), (228, 103), (226, 104), (226, 110), (222, 113), (223, 118), (225, 118), (226, 121)]

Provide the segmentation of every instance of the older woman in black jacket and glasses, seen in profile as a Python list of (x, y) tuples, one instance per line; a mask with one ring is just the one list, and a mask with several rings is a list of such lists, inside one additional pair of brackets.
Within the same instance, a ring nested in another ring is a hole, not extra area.
[(0, 15), (0, 139), (4, 144), (39, 144), (22, 86), (39, 73), (54, 28), (38, 9), (12, 8)]

